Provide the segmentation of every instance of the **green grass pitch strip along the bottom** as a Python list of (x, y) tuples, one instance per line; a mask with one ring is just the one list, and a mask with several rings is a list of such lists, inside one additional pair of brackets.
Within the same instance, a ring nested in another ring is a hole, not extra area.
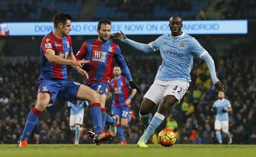
[(148, 148), (139, 148), (136, 144), (127, 144), (120, 146), (118, 144), (30, 144), (29, 148), (18, 148), (15, 144), (0, 144), (0, 156), (17, 156), (17, 157), (137, 157), (137, 156), (154, 156), (154, 157), (180, 157), (180, 156), (256, 156), (256, 145), (194, 145), (194, 144), (175, 144), (172, 147), (163, 147), (160, 144), (148, 144)]

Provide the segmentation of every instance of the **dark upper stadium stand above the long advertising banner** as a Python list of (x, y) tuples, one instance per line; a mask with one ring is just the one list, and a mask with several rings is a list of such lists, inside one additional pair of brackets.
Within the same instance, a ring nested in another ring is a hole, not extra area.
[[(165, 20), (170, 14), (182, 15), (183, 18), (189, 19), (255, 19), (256, 5), (250, 0), (147, 0), (140, 3), (135, 0), (101, 0), (94, 3), (97, 3), (97, 7), (103, 5), (113, 10), (109, 15), (113, 20)], [(54, 14), (70, 7), (75, 8), (72, 11), (75, 11), (73, 15), (77, 16), (81, 10), (89, 9), (87, 6), (89, 5), (81, 0), (0, 0), (0, 20), (51, 20)], [(98, 8), (98, 11), (101, 13), (101, 8)], [(118, 16), (118, 13), (123, 14)], [(97, 20), (97, 15), (92, 15), (92, 19)]]

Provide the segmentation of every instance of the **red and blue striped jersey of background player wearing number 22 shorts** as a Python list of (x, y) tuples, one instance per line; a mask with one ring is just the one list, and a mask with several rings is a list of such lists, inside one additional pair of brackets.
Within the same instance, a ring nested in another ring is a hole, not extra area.
[(110, 81), (109, 92), (113, 92), (113, 105), (125, 106), (125, 101), (129, 98), (129, 82), (125, 76)]

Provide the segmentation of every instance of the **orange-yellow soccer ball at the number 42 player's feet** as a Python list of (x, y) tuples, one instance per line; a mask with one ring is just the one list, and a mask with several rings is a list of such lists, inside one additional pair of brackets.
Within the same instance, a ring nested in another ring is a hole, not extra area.
[(176, 142), (176, 135), (170, 129), (163, 129), (158, 134), (158, 142), (164, 147), (170, 147)]

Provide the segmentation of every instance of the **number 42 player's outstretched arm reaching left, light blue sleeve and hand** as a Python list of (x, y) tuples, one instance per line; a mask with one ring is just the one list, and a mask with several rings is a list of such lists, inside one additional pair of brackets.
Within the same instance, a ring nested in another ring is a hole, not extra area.
[(121, 40), (121, 42), (129, 44), (129, 46), (145, 53), (154, 52), (154, 49), (152, 49), (149, 44), (138, 43), (138, 42), (135, 42), (134, 40), (128, 39), (126, 35), (123, 34), (122, 31), (115, 32), (113, 34), (113, 39)]

